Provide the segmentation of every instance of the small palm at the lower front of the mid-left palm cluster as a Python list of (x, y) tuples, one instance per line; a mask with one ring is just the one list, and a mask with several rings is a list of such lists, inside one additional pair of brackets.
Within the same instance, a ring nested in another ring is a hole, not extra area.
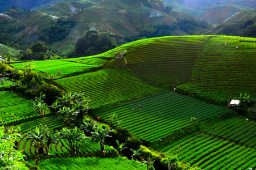
[(71, 109), (67, 107), (63, 107), (62, 109), (60, 108), (60, 110), (57, 112), (59, 115), (58, 118), (61, 118), (61, 120), (64, 121), (65, 126), (69, 126), (73, 116), (77, 116), (78, 113), (79, 112), (77, 112), (75, 108)]

